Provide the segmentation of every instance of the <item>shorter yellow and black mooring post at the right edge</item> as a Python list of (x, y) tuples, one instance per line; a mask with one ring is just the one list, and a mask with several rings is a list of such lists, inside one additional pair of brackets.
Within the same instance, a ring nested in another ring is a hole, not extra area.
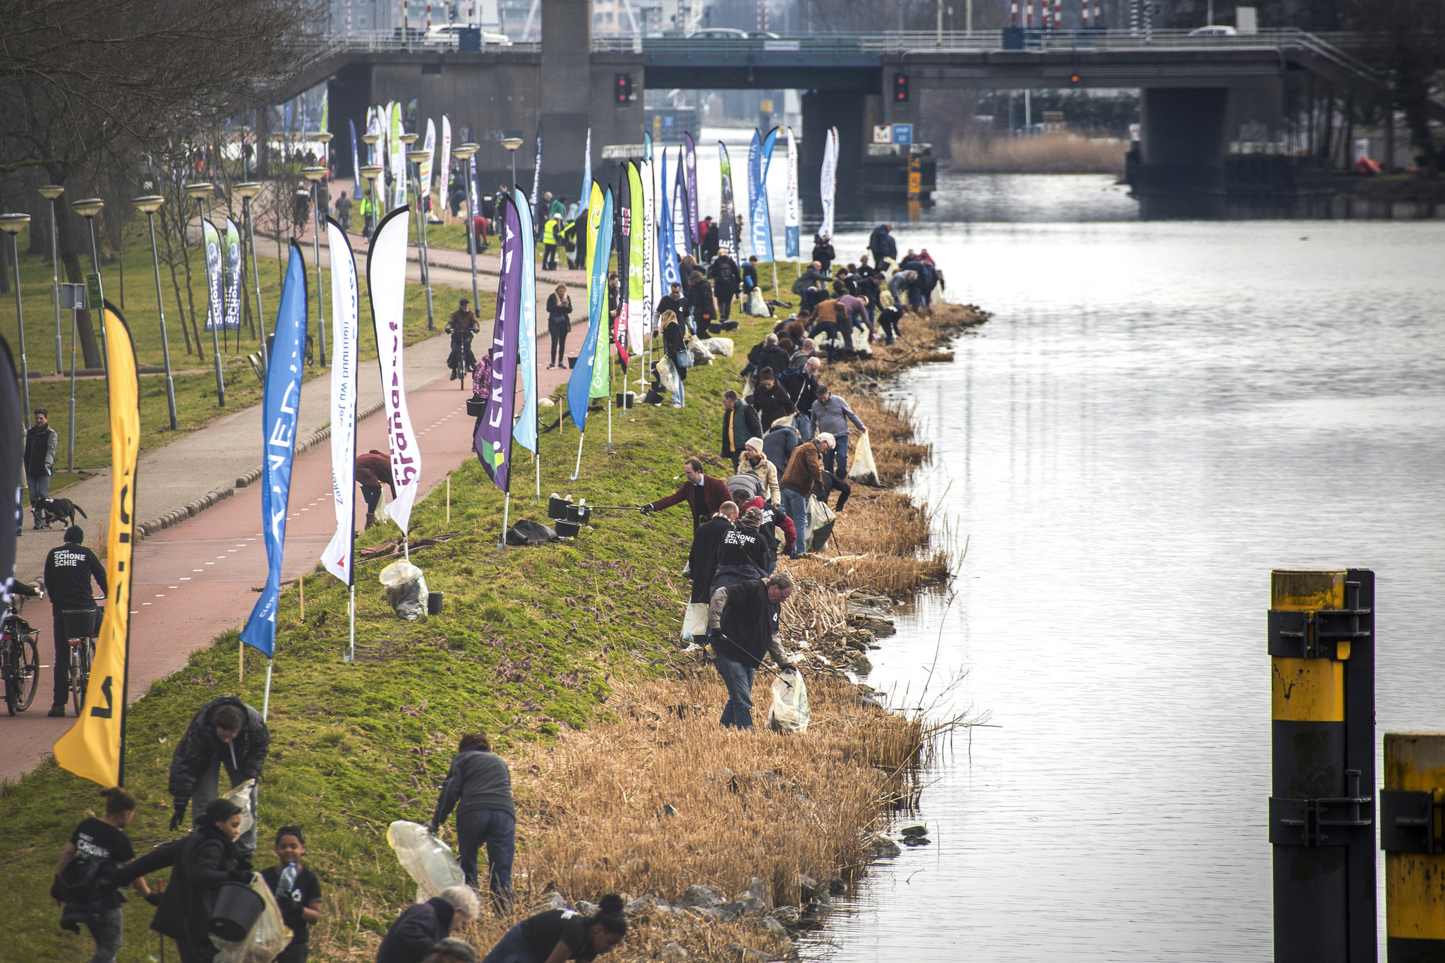
[(1445, 732), (1386, 732), (1380, 791), (1390, 963), (1445, 960)]

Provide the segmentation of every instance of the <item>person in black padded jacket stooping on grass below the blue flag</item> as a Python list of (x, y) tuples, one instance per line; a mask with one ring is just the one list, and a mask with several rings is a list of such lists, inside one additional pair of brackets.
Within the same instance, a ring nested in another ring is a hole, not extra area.
[[(221, 767), (234, 788), (246, 780), (260, 780), (270, 752), (270, 731), (262, 713), (236, 696), (221, 696), (201, 706), (191, 718), (185, 735), (171, 757), (171, 798), (175, 813), (171, 829), (185, 822), (185, 807), (191, 803), (192, 819), (199, 819), (207, 804), (220, 793)], [(251, 793), (251, 819), (256, 817), (256, 794)], [(256, 852), (256, 826), (236, 840), (236, 849), (250, 865)]]

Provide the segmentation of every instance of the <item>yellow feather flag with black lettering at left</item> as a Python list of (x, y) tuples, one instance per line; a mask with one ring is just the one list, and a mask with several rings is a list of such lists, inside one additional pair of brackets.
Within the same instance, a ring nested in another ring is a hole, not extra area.
[(105, 537), (105, 619), (95, 641), (85, 707), (55, 742), (62, 770), (101, 785), (126, 781), (126, 690), (130, 674), (130, 557), (136, 531), (136, 456), (140, 453), (140, 390), (136, 349), (126, 319), (105, 302), (110, 362), (110, 534)]

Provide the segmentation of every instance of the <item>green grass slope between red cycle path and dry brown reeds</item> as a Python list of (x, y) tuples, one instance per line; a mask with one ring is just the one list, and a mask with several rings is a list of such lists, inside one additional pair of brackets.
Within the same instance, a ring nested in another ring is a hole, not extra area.
[[(783, 273), (790, 271), (786, 266)], [(715, 452), (718, 398), (737, 385), (747, 348), (770, 325), (744, 319), (733, 334), (734, 358), (694, 368), (686, 409), (643, 406), (614, 416), (611, 452), (604, 450), (605, 416), (592, 414), (577, 482), (568, 481), (577, 432), (543, 435), (543, 498), (558, 491), (594, 504), (636, 505), (675, 491), (683, 456)], [(512, 521), (543, 521), (545, 505), (530, 497), (533, 463), (520, 448), (514, 471)], [(412, 515), (413, 536), (458, 533), (412, 556), (431, 591), (445, 593), (441, 616), (397, 619), (377, 583), (390, 562), (358, 565), (357, 661), (347, 664), (345, 588), (319, 570), (308, 575), (305, 618), (295, 588), (282, 598), (262, 839), (288, 822), (308, 832), (306, 862), (325, 888), (314, 960), (341, 959), (358, 933), (384, 931), (410, 902), (415, 888), (386, 843), (386, 826), (426, 820), (460, 733), (481, 729), (506, 755), (519, 742), (605, 720), (611, 679), (670, 671), (670, 640), (686, 601), (686, 583), (675, 575), (688, 547), (685, 511), (600, 513), (577, 541), (499, 550), (503, 495), (481, 466), (468, 461), (452, 474), (449, 521), (445, 491), (438, 485)], [(394, 534), (390, 526), (379, 527), (360, 543)], [(126, 783), (142, 801), (130, 829), (139, 852), (172, 837), (166, 774), (195, 709), (225, 693), (262, 705), (264, 660), (247, 651), (241, 681), (237, 645), (236, 631), (225, 632), (130, 709)], [(46, 892), (68, 835), (98, 801), (95, 790), (46, 762), (0, 791), (0, 826), (9, 840), (0, 852), (9, 884), (0, 892), (9, 930), (0, 960), (87, 956), (88, 937), (58, 928)], [(527, 804), (519, 797), (520, 807)], [(532, 843), (517, 842), (523, 849)], [(269, 865), (269, 853), (260, 852), (259, 865)], [(123, 963), (155, 954), (150, 917), (142, 902), (127, 908)]]

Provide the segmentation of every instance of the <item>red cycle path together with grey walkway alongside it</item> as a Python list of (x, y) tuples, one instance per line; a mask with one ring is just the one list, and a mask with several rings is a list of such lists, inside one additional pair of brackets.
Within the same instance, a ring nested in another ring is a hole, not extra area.
[[(413, 267), (412, 274), (415, 273)], [(487, 325), (488, 319), (484, 319), (484, 331), (490, 331)], [(545, 351), (546, 319), (540, 313), (539, 328), (542, 335), (538, 341)], [(470, 391), (458, 388), (447, 377), (447, 338), (432, 338), (406, 349), (407, 407), (422, 446), (420, 495), (464, 461), (474, 458), (474, 423), (465, 413)], [(566, 372), (548, 371), (546, 365), (542, 368), (539, 387), (545, 397), (562, 384)], [(361, 375), (358, 404), (364, 409), (381, 397), (377, 365), (363, 364)], [(298, 439), (309, 437), (328, 423), (328, 397), (327, 377), (315, 378), (302, 388)], [(357, 436), (358, 452), (373, 448), (384, 452), (384, 419), (363, 420)], [(260, 465), (260, 406), (256, 406), (172, 445), (146, 452), (140, 458), (137, 474), (137, 518), (155, 518), (208, 491), (234, 485), (237, 476)], [(91, 544), (101, 541), (108, 517), (110, 484), (107, 474), (65, 491), (91, 515), (85, 530)], [(251, 588), (266, 582), (260, 495), (259, 485), (240, 488), (207, 511), (136, 546), (130, 702), (144, 694), (152, 681), (181, 668), (194, 650), (208, 645), (225, 629), (244, 624), (257, 598)], [(335, 531), (329, 442), (321, 442), (296, 456), (290, 508), (283, 579), (311, 572)], [(358, 497), (358, 520), (364, 511), (366, 505)], [(19, 540), (17, 575), (23, 579), (39, 578), (46, 552), (59, 541), (59, 528), (49, 534), (26, 531)], [(357, 588), (370, 591), (364, 585)], [(40, 629), (40, 663), (45, 668), (30, 709), (14, 718), (0, 716), (0, 783), (17, 781), (22, 774), (39, 765), (51, 754), (55, 741), (74, 723), (71, 715), (65, 719), (49, 719), (45, 715), (53, 689), (49, 599), (26, 605), (25, 618)]]

